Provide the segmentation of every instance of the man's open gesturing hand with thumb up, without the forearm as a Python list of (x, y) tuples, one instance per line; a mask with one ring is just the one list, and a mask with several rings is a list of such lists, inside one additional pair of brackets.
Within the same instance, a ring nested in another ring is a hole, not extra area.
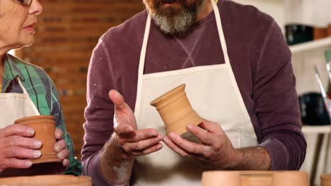
[(132, 109), (124, 102), (122, 95), (111, 90), (109, 97), (115, 104), (114, 128), (117, 142), (131, 156), (151, 154), (162, 148), (162, 135), (154, 129), (137, 130)]

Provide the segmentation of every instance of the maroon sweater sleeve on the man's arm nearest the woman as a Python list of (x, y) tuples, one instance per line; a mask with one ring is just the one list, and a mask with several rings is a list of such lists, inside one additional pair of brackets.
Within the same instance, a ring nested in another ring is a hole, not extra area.
[(93, 185), (111, 185), (103, 178), (99, 166), (99, 151), (113, 132), (114, 104), (108, 96), (115, 89), (107, 46), (99, 40), (93, 50), (87, 78), (86, 123), (82, 149), (83, 174), (91, 176)]

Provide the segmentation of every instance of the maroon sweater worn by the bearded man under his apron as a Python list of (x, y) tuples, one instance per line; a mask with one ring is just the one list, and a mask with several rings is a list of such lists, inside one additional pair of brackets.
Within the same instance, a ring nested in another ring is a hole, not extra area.
[[(220, 0), (218, 6), (233, 73), (257, 140), (269, 151), (272, 170), (297, 170), (305, 159), (306, 140), (301, 132), (291, 51), (281, 30), (270, 16), (252, 6), (228, 0)], [(110, 29), (91, 57), (82, 161), (84, 173), (93, 177), (95, 185), (107, 185), (100, 175), (98, 153), (113, 132), (110, 89), (123, 94), (134, 110), (146, 16), (143, 11)], [(163, 35), (152, 21), (145, 74), (217, 63), (224, 59), (214, 12), (181, 38)]]

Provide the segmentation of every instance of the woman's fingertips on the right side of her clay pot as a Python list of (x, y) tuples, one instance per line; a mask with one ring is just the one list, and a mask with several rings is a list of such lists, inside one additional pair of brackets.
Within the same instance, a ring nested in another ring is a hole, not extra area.
[(63, 137), (63, 132), (61, 129), (57, 128), (57, 130), (55, 130), (55, 138), (59, 141), (57, 141), (57, 143), (54, 144), (54, 151), (57, 153), (57, 158), (62, 160), (62, 165), (64, 167), (68, 167), (69, 166), (69, 150), (66, 149), (66, 142), (64, 141), (64, 139), (62, 139)]

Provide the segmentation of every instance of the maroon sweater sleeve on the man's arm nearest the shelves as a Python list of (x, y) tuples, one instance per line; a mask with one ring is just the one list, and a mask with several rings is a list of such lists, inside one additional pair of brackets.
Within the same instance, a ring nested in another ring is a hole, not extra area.
[(260, 146), (272, 158), (272, 170), (298, 170), (306, 156), (291, 51), (272, 23), (256, 63), (253, 99), (260, 122)]

